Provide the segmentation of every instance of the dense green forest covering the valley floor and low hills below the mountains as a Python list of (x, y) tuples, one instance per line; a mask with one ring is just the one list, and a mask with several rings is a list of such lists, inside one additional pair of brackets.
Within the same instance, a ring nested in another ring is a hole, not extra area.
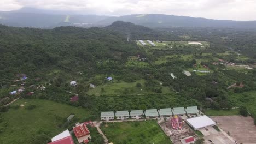
[[(208, 49), (199, 50), (197, 46), (176, 45), (172, 50), (141, 49), (135, 40), (188, 40), (183, 35), (189, 35), (189, 40), (208, 41)], [(234, 104), (228, 99), (228, 87), (231, 83), (242, 81), (246, 87), (235, 92), (252, 91), (255, 89), (255, 74), (241, 71), (221, 70), (222, 65), (213, 66), (213, 58), (225, 58), (227, 61), (244, 65), (255, 64), (256, 32), (236, 31), (235, 29), (215, 28), (168, 28), (150, 29), (132, 23), (117, 21), (105, 28), (56, 27), (54, 29), (15, 28), (0, 26), (0, 98), (1, 105), (9, 103), (19, 95), (9, 95), (15, 88), (25, 85), (24, 98), (51, 99), (60, 103), (83, 106), (99, 113), (111, 110), (132, 110), (162, 108), (173, 106), (213, 107), (230, 109)], [(128, 39), (127, 39), (128, 37)], [(189, 48), (189, 49), (188, 49)], [(217, 53), (230, 51), (228, 56)], [(236, 52), (248, 56), (248, 59), (236, 59)], [(202, 53), (211, 53), (210, 56)], [(153, 64), (164, 55), (176, 57), (167, 58), (160, 64)], [(192, 59), (183, 59), (182, 55), (193, 55)], [(146, 67), (135, 67), (130, 57), (140, 55), (146, 58)], [(182, 74), (183, 69), (193, 68), (196, 60), (201, 65), (208, 65), (213, 73), (208, 75)], [(204, 59), (210, 59), (205, 61)], [(176, 73), (179, 79), (172, 79), (170, 73)], [(26, 82), (18, 81), (20, 74), (26, 74)], [(109, 83), (105, 77), (124, 82), (143, 80), (146, 91), (151, 92), (137, 97), (131, 95), (132, 89), (120, 89), (119, 96), (104, 94), (101, 96), (88, 94), (89, 83), (103, 85)], [(227, 77), (230, 77), (228, 79)], [(76, 80), (78, 86), (72, 87), (69, 82)], [(159, 85), (161, 82), (161, 86)], [(213, 82), (218, 83), (214, 85)], [(32, 86), (46, 86), (40, 91)], [(164, 89), (170, 91), (163, 93)], [(26, 95), (35, 92), (35, 96)], [(77, 93), (79, 100), (71, 102), (71, 93)], [(211, 98), (207, 101), (205, 98)], [(105, 106), (108, 105), (108, 106)], [(1, 109), (5, 111), (2, 106)], [(97, 118), (97, 116), (95, 117)]]

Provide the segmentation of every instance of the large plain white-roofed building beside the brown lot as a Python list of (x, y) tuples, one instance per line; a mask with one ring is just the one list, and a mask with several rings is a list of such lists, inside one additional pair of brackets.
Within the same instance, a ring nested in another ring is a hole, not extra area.
[(207, 117), (205, 115), (200, 117), (189, 118), (189, 119), (186, 119), (186, 121), (195, 130), (216, 125), (216, 123), (212, 121), (210, 117)]

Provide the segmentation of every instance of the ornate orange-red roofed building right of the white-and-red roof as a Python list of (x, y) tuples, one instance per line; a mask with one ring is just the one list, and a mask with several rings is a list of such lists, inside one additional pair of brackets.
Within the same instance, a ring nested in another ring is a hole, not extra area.
[(73, 131), (79, 143), (89, 143), (91, 140), (90, 131), (86, 127), (86, 124), (76, 123), (75, 127), (73, 127)]

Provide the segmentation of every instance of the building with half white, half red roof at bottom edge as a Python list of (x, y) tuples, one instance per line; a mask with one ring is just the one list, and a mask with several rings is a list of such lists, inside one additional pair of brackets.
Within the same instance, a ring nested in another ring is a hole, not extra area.
[(51, 139), (51, 142), (48, 144), (74, 144), (72, 136), (70, 135), (68, 129), (60, 133), (59, 135), (54, 136)]

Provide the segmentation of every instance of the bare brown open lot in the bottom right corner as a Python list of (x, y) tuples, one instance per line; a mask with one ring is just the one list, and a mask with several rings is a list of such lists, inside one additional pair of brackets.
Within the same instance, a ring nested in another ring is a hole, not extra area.
[(252, 117), (243, 116), (212, 116), (220, 128), (234, 138), (238, 143), (256, 143), (256, 126)]

